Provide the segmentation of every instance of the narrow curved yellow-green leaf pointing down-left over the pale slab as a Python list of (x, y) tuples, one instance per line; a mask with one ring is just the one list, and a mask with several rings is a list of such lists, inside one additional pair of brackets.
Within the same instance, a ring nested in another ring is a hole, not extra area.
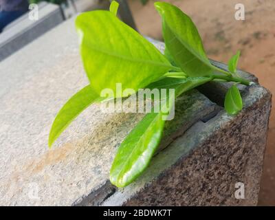
[(90, 104), (100, 100), (90, 85), (78, 91), (70, 98), (56, 115), (49, 135), (49, 146), (61, 135), (67, 126)]

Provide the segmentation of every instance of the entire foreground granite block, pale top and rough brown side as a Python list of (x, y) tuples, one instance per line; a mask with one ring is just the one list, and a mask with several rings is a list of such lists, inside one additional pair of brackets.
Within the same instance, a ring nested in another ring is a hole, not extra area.
[[(243, 87), (245, 108), (236, 117), (211, 94), (212, 101), (197, 90), (181, 96), (162, 151), (124, 189), (111, 186), (109, 168), (142, 114), (106, 114), (93, 105), (49, 150), (56, 113), (88, 83), (77, 43), (70, 19), (0, 63), (0, 205), (256, 204), (271, 99), (259, 85)], [(199, 90), (209, 95), (209, 86)], [(245, 184), (245, 199), (234, 199), (236, 181)]]

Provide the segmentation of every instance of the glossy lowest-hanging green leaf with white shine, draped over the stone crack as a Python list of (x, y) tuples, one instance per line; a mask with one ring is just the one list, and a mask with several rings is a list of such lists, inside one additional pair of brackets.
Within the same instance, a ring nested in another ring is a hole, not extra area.
[(161, 140), (164, 123), (162, 113), (148, 113), (124, 139), (110, 170), (113, 185), (131, 184), (148, 166)]

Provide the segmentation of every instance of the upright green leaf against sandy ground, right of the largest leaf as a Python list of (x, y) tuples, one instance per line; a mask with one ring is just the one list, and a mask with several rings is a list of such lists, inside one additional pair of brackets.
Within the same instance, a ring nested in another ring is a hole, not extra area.
[(166, 48), (173, 60), (188, 76), (205, 76), (212, 65), (203, 49), (195, 24), (184, 12), (170, 3), (156, 2), (155, 8), (162, 16)]

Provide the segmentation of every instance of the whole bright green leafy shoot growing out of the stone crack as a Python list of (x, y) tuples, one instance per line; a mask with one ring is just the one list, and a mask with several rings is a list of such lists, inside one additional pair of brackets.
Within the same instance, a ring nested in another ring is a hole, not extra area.
[[(118, 6), (113, 1), (110, 11), (84, 12), (76, 18), (80, 54), (90, 84), (72, 96), (56, 115), (49, 146), (84, 109), (104, 100), (102, 89), (112, 89), (115, 94), (112, 98), (121, 98), (115, 92), (117, 83), (122, 89), (131, 88), (133, 93), (142, 88), (175, 89), (175, 97), (168, 96), (165, 100), (166, 111), (147, 113), (120, 144), (111, 166), (110, 180), (115, 186), (125, 187), (150, 164), (162, 140), (165, 118), (175, 98), (210, 81), (222, 80), (246, 86), (251, 83), (235, 76), (240, 52), (228, 62), (229, 71), (210, 63), (195, 23), (175, 5), (155, 3), (162, 18), (165, 56), (116, 17)], [(224, 107), (229, 115), (235, 115), (243, 108), (236, 85), (228, 89)]]

